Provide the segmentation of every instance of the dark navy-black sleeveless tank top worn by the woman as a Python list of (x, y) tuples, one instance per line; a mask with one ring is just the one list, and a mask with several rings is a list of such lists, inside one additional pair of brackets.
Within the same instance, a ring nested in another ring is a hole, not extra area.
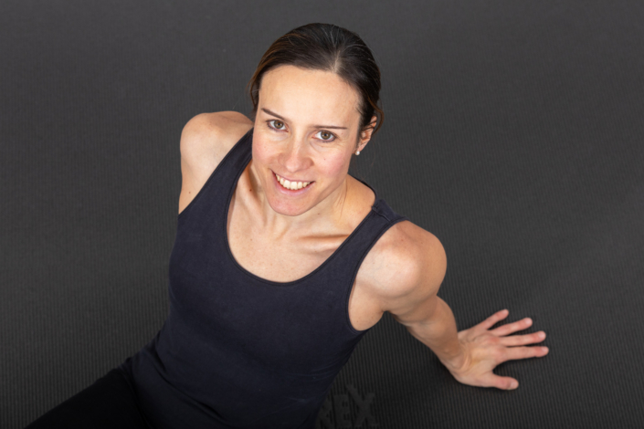
[(367, 331), (349, 320), (358, 268), (376, 240), (406, 219), (363, 182), (375, 193), (371, 212), (320, 267), (290, 282), (255, 276), (227, 242), (228, 207), (251, 143), (252, 129), (179, 214), (169, 315), (121, 365), (155, 429), (312, 429)]

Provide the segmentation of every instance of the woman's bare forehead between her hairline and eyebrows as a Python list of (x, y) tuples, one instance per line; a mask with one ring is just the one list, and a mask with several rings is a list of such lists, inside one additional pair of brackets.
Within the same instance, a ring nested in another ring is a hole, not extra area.
[(331, 71), (280, 66), (266, 72), (259, 87), (259, 108), (302, 124), (357, 126), (358, 101), (355, 89)]

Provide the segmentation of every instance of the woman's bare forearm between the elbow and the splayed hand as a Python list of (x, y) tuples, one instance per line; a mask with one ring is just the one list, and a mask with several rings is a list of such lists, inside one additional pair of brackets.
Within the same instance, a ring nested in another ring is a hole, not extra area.
[(459, 368), (463, 364), (465, 354), (460, 347), (456, 319), (447, 302), (441, 298), (438, 298), (431, 319), (406, 326), (406, 330), (434, 351), (448, 368)]

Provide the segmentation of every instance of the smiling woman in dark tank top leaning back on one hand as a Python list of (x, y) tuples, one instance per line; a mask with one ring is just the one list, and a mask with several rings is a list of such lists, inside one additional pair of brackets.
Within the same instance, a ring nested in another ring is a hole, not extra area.
[(354, 33), (301, 26), (261, 58), (253, 120), (226, 111), (185, 125), (163, 329), (30, 427), (312, 428), (385, 311), (459, 382), (517, 387), (492, 370), (544, 356), (523, 347), (544, 332), (507, 337), (529, 319), (490, 330), (502, 310), (457, 333), (437, 296), (438, 238), (348, 174), (382, 124), (379, 77)]

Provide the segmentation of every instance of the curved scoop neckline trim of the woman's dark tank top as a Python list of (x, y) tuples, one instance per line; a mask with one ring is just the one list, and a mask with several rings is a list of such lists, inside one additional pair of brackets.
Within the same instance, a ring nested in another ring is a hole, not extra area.
[[(239, 177), (241, 177), (241, 174), (244, 173), (244, 170), (246, 170), (246, 168), (248, 167), (248, 163), (250, 162), (251, 159), (252, 159), (252, 156), (248, 155), (248, 161), (244, 162), (244, 168), (242, 168), (236, 174), (235, 179), (233, 181), (234, 184), (233, 184), (231, 190), (228, 192), (228, 196), (227, 196), (227, 199), (226, 199), (226, 213), (224, 214), (224, 220), (223, 220), (223, 224), (224, 224), (223, 225), (224, 226), (224, 246), (226, 247), (226, 253), (228, 255), (228, 258), (230, 259), (230, 261), (232, 261), (232, 263), (236, 267), (238, 267), (238, 270), (241, 271), (243, 274), (247, 275), (248, 277), (251, 277), (251, 278), (253, 278), (253, 279), (255, 279), (255, 280), (259, 281), (259, 282), (268, 283), (269, 285), (272, 285), (272, 286), (289, 287), (289, 286), (294, 286), (294, 285), (296, 285), (298, 283), (301, 283), (301, 282), (303, 282), (305, 280), (308, 280), (309, 278), (313, 277), (319, 271), (322, 271), (322, 268), (324, 268), (328, 264), (330, 264), (331, 261), (333, 260), (333, 258), (335, 258), (335, 256), (337, 256), (340, 253), (340, 251), (343, 249), (344, 246), (347, 246), (347, 243), (349, 243), (351, 241), (351, 239), (354, 237), (354, 235), (356, 235), (358, 233), (360, 228), (362, 228), (362, 226), (366, 223), (367, 219), (374, 215), (375, 207), (376, 207), (376, 205), (378, 205), (380, 203), (380, 199), (378, 198), (378, 193), (375, 192), (375, 189), (370, 184), (368, 184), (368, 183), (364, 182), (363, 180), (358, 179), (358, 178), (356, 178), (354, 176), (351, 176), (351, 177), (354, 177), (354, 179), (356, 179), (356, 180), (364, 183), (366, 186), (368, 186), (369, 189), (371, 189), (374, 192), (374, 197), (375, 197), (374, 204), (371, 205), (371, 210), (369, 211), (368, 214), (366, 214), (364, 216), (363, 220), (360, 221), (360, 223), (354, 228), (354, 231), (352, 231), (351, 234), (344, 239), (344, 241), (340, 244), (340, 246), (338, 246), (338, 248), (336, 248), (333, 251), (331, 256), (329, 256), (326, 259), (324, 259), (324, 262), (322, 262), (322, 264), (319, 267), (315, 268), (314, 270), (312, 270), (309, 274), (307, 274), (304, 277), (297, 278), (297, 279), (291, 280), (291, 281), (275, 281), (275, 280), (269, 280), (268, 278), (259, 277), (258, 275), (253, 274), (250, 271), (248, 271), (248, 269), (242, 267), (238, 263), (237, 259), (235, 259), (235, 256), (233, 256), (232, 250), (230, 250), (230, 243), (228, 242), (228, 231), (227, 231), (227, 229), (228, 229), (227, 228), (228, 212), (230, 210), (230, 202), (232, 201), (233, 194), (237, 190)], [(348, 175), (351, 175), (351, 174), (348, 174)]]

